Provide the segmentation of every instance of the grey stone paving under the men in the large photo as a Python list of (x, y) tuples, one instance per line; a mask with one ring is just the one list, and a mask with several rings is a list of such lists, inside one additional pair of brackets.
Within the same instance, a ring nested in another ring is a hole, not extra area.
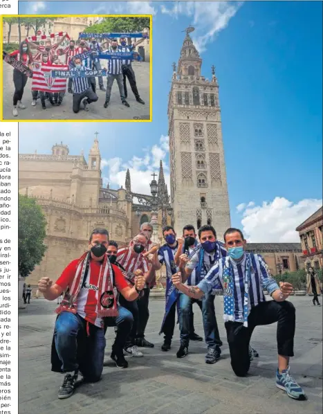
[[(295, 358), (292, 375), (304, 387), (308, 401), (298, 402), (275, 386), (277, 367), (276, 324), (257, 327), (252, 346), (259, 358), (246, 378), (230, 368), (228, 344), (222, 321), (223, 298), (216, 299), (223, 358), (204, 362), (205, 344), (190, 343), (190, 354), (176, 358), (179, 332), (172, 350), (162, 352), (159, 336), (164, 300), (151, 298), (147, 339), (155, 348), (142, 349), (143, 358), (130, 358), (129, 368), (116, 368), (109, 359), (113, 328), (107, 332), (102, 381), (77, 388), (68, 399), (57, 399), (63, 376), (50, 372), (50, 344), (55, 322), (55, 301), (34, 299), (19, 311), (19, 414), (314, 414), (322, 413), (322, 307), (308, 296), (291, 297), (297, 314)], [(194, 305), (196, 333), (203, 333), (201, 312)]]

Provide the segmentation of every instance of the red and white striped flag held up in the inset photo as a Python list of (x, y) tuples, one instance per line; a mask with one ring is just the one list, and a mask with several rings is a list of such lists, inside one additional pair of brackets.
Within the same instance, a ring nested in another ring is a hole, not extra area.
[(33, 64), (33, 91), (43, 92), (65, 92), (67, 79), (53, 78), (52, 71), (67, 71), (65, 64)]

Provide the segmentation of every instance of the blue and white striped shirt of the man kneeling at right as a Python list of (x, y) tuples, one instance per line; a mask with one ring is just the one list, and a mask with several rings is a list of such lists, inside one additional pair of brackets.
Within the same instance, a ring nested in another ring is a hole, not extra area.
[[(277, 282), (270, 276), (268, 266), (261, 255), (251, 255), (251, 273), (249, 287), (249, 311), (252, 307), (261, 302), (266, 302), (264, 290), (272, 294), (279, 289)], [(239, 263), (232, 260), (229, 256), (217, 260), (205, 278), (199, 282), (197, 287), (204, 293), (212, 291), (214, 288), (223, 288), (223, 269), (229, 267), (230, 275), (234, 281), (234, 321), (243, 321), (243, 300), (244, 300), (244, 276), (246, 272), (246, 253), (243, 260)]]

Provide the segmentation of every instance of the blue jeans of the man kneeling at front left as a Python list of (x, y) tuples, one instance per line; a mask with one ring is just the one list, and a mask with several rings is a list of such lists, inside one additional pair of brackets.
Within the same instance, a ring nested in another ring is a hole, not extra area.
[(84, 379), (99, 381), (103, 370), (104, 349), (106, 345), (104, 330), (89, 325), (78, 314), (62, 312), (55, 323), (55, 347), (63, 372), (80, 370)]

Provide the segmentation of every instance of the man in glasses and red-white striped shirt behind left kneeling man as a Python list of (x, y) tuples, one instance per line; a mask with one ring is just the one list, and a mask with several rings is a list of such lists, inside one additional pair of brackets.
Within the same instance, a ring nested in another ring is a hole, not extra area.
[[(136, 237), (133, 237), (133, 240), (131, 240), (129, 243), (128, 248), (118, 250), (117, 261), (126, 270), (125, 276), (131, 284), (135, 281), (137, 271), (142, 271), (146, 280), (151, 274), (152, 266), (147, 258), (145, 258), (145, 256), (142, 254), (142, 252), (145, 251), (147, 242), (148, 240), (145, 235), (138, 234)], [(138, 308), (141, 305), (141, 300), (144, 299), (140, 298), (139, 300), (135, 300), (133, 302), (128, 302), (121, 296), (119, 299), (120, 305), (128, 309), (133, 315), (133, 325), (125, 346), (125, 351), (127, 354), (131, 354), (133, 357), (143, 357), (142, 352), (138, 350), (136, 345), (140, 317)], [(154, 347), (153, 344), (151, 345)]]

